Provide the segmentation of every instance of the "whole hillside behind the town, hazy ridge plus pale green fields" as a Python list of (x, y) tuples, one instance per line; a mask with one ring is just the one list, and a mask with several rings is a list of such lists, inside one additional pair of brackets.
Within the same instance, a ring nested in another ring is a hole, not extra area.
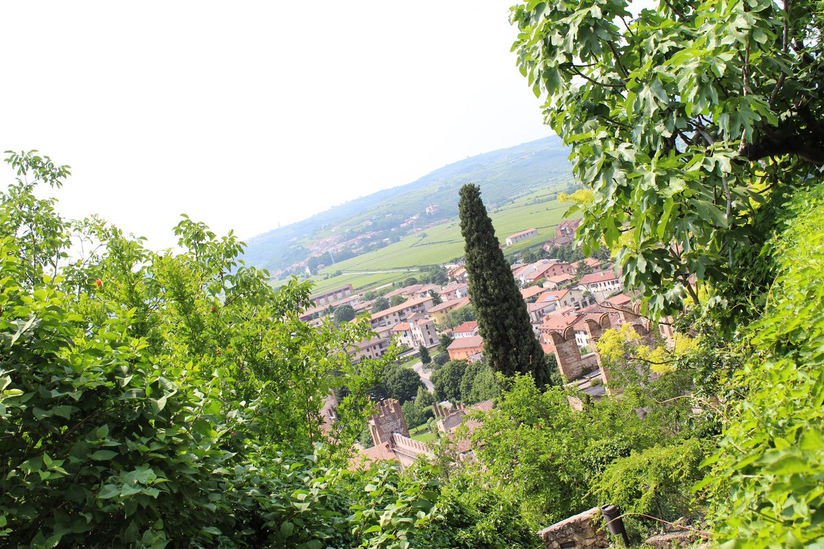
[[(557, 204), (552, 204), (554, 195), (572, 184), (567, 155), (553, 136), (466, 158), (408, 185), (354, 199), (254, 237), (245, 260), (269, 269), (275, 278), (285, 278), (301, 275), (305, 262), (314, 257), (316, 264), (325, 265), (313, 277), (321, 282), (339, 270), (397, 269), (461, 256), (457, 191), (468, 182), (480, 184), (502, 240), (533, 226), (541, 233), (541, 227), (548, 230), (560, 216)], [(427, 213), (427, 208), (433, 211)], [(405, 224), (413, 216), (419, 217)], [(330, 252), (330, 246), (364, 233), (373, 234), (344, 246), (342, 252)], [(335, 284), (349, 284), (342, 276), (336, 278)], [(392, 276), (384, 278), (391, 281)]]

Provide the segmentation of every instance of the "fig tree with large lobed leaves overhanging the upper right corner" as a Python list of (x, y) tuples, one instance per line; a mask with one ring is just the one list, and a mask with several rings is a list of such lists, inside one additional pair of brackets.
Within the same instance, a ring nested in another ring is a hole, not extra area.
[(717, 297), (738, 307), (771, 280), (746, 257), (776, 217), (760, 210), (824, 162), (821, 4), (677, 0), (634, 18), (629, 7), (511, 11), (521, 72), (595, 191), (575, 206), (579, 236), (616, 252), (622, 282), (656, 315), (699, 301), (690, 277), (737, 285)]

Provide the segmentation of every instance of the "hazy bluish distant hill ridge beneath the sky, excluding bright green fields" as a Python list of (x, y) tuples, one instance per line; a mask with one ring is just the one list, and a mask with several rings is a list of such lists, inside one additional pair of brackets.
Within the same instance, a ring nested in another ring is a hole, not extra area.
[[(411, 227), (457, 218), (458, 190), (466, 183), (481, 186), (485, 204), (491, 209), (511, 202), (518, 195), (548, 185), (572, 181), (567, 161), (569, 150), (559, 138), (550, 136), (516, 147), (485, 152), (439, 168), (417, 181), (334, 206), (297, 223), (265, 232), (247, 241), (244, 260), (248, 265), (269, 269), (275, 275), (292, 272), (312, 256), (327, 253), (335, 242), (347, 241), (364, 232), (372, 238), (393, 240)], [(427, 213), (428, 207), (430, 211)], [(418, 215), (405, 227), (403, 223)], [(374, 245), (365, 239), (365, 245)], [(349, 246), (357, 249), (359, 242)], [(354, 246), (354, 247), (353, 247)], [(358, 253), (358, 252), (355, 252)], [(325, 263), (329, 263), (325, 260)]]

